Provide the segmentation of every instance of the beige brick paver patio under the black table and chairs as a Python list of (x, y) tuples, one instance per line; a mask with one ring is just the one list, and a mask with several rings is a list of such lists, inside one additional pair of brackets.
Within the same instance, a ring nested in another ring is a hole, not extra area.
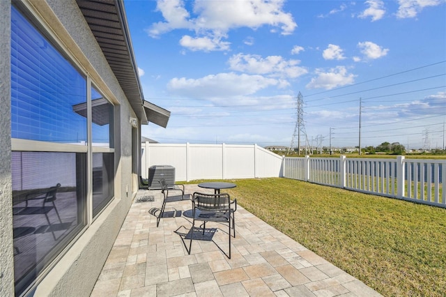
[[(194, 191), (213, 192), (186, 185), (187, 193)], [(156, 227), (148, 211), (161, 206), (162, 195), (139, 190), (137, 198), (147, 195), (155, 200), (135, 199), (91, 296), (380, 296), (240, 206), (231, 259), (216, 245), (227, 252), (226, 227), (213, 241), (193, 241), (187, 254), (174, 231), (190, 229), (191, 219), (162, 218)], [(184, 212), (192, 203), (167, 206)], [(211, 227), (218, 225), (206, 224)]]

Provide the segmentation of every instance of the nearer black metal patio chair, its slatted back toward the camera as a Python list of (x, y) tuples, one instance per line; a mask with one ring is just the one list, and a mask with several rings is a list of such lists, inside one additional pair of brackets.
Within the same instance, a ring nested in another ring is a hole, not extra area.
[[(233, 208), (231, 206), (234, 206)], [(192, 240), (194, 239), (194, 232), (196, 229), (195, 222), (201, 221), (203, 224), (202, 228), (197, 228), (197, 231), (202, 232), (203, 235), (206, 231), (206, 222), (217, 222), (222, 224), (228, 224), (228, 238), (229, 238), (229, 253), (226, 254), (222, 248), (218, 245), (217, 247), (231, 259), (231, 229), (233, 229), (233, 237), (236, 237), (235, 229), (235, 218), (234, 212), (237, 210), (237, 200), (231, 201), (229, 194), (203, 194), (199, 192), (194, 192), (192, 196), (192, 228), (190, 229), (190, 244), (189, 250), (190, 254), (192, 248)], [(197, 239), (197, 238), (195, 238)]]

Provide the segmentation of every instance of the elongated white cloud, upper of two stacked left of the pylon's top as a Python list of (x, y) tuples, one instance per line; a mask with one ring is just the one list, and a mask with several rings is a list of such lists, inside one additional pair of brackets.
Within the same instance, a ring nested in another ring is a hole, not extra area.
[(299, 60), (286, 60), (282, 56), (262, 58), (255, 54), (235, 54), (228, 61), (229, 68), (240, 72), (295, 78), (308, 72), (298, 66)]

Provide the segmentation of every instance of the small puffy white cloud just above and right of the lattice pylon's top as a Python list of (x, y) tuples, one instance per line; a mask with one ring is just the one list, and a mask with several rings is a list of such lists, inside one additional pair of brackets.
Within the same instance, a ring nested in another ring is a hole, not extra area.
[(353, 84), (355, 75), (347, 73), (344, 66), (337, 66), (330, 69), (329, 72), (323, 72), (322, 69), (316, 69), (317, 77), (312, 78), (311, 82), (307, 84), (308, 89), (334, 89), (337, 86), (345, 86), (346, 84)]

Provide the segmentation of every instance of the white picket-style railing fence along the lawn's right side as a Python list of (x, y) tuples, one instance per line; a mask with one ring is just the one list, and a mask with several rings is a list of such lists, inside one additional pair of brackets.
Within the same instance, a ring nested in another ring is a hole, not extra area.
[(284, 158), (286, 178), (446, 208), (446, 160)]

